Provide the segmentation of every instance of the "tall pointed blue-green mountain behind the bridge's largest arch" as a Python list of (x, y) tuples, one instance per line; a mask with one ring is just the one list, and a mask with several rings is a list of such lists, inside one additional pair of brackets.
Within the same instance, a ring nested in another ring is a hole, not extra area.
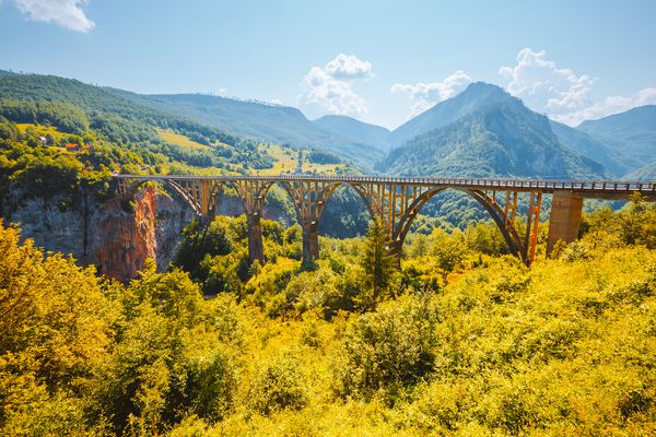
[[(438, 126), (454, 118), (445, 108), (461, 116), (394, 149), (379, 168), (389, 174), (460, 177), (558, 179), (605, 174), (599, 163), (563, 146), (547, 117), (496, 86), (470, 85), (429, 109)], [(429, 117), (421, 119), (424, 122), (414, 126), (423, 129)]]

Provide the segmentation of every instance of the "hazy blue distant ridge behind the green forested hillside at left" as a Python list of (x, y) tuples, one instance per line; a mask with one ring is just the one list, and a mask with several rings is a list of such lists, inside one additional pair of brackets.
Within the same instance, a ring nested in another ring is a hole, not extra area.
[(288, 143), (295, 147), (326, 149), (370, 166), (383, 157), (383, 152), (377, 147), (324, 130), (298, 109), (289, 106), (200, 94), (140, 95), (120, 90), (115, 92), (140, 105), (198, 120), (243, 137)]

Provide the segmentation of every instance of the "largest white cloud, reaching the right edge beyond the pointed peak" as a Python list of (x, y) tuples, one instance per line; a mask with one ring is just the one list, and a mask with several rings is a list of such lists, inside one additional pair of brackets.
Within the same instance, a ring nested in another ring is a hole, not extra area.
[(656, 88), (651, 87), (633, 96), (599, 101), (594, 96), (596, 78), (558, 68), (554, 61), (547, 60), (544, 50), (532, 51), (529, 47), (519, 50), (515, 66), (500, 68), (499, 74), (506, 90), (528, 107), (570, 126), (656, 103)]

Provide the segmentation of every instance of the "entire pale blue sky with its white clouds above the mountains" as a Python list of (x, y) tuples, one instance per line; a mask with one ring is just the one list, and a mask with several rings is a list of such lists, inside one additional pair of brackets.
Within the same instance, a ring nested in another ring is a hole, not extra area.
[(656, 104), (656, 1), (0, 0), (0, 69), (394, 128), (470, 81), (577, 125)]

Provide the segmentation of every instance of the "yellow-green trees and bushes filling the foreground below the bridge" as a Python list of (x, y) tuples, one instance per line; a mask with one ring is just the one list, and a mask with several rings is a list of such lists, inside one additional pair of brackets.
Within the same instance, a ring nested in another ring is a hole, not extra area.
[(301, 270), (298, 231), (266, 222), (249, 268), (219, 218), (124, 286), (0, 227), (0, 434), (654, 434), (654, 206), (530, 270), (487, 225), (415, 236), (400, 272), (374, 225)]

